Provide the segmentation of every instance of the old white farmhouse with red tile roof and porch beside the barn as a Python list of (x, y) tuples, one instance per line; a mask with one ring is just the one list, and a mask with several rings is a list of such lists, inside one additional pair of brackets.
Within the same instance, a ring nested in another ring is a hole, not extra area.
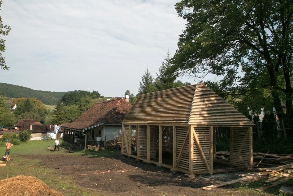
[(98, 145), (122, 134), (122, 120), (132, 105), (125, 98), (94, 104), (72, 123), (62, 124), (63, 141), (73, 144)]

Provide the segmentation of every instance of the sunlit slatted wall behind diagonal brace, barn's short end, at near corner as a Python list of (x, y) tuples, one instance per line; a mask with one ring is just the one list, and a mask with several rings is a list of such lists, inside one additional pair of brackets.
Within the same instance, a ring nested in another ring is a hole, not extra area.
[[(203, 149), (203, 153), (207, 159), (207, 162), (210, 163), (209, 154), (210, 154), (210, 127), (194, 127), (195, 133), (199, 138), (199, 143)], [(207, 170), (206, 166), (203, 163), (203, 159), (200, 156), (199, 149), (194, 142), (193, 144), (193, 171)]]

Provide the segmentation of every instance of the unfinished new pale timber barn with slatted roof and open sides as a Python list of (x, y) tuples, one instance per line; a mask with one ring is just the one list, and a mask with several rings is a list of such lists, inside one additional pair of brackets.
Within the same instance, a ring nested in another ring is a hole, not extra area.
[[(122, 121), (122, 154), (186, 174), (252, 169), (253, 125), (202, 83), (143, 94)], [(213, 167), (217, 127), (230, 128), (233, 168)]]

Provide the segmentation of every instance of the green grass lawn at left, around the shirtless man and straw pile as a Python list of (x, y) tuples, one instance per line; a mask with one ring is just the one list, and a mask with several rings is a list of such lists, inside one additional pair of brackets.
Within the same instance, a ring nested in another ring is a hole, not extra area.
[[(70, 176), (60, 176), (53, 169), (42, 167), (40, 160), (20, 158), (17, 155), (50, 155), (52, 151), (48, 146), (54, 147), (54, 140), (28, 141), (26, 144), (14, 145), (10, 149), (10, 161), (6, 166), (0, 167), (0, 180), (17, 175), (34, 176), (42, 180), (50, 189), (57, 190), (64, 195), (99, 195), (94, 190), (88, 190), (77, 185)], [(1, 157), (5, 154), (6, 147), (0, 146)], [(58, 152), (59, 155), (83, 155), (82, 151), (67, 153)]]

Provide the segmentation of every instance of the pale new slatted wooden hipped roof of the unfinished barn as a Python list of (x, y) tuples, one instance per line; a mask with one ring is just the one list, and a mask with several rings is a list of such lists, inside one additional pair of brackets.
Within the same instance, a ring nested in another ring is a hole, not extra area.
[(252, 126), (223, 98), (202, 83), (138, 96), (123, 124)]

